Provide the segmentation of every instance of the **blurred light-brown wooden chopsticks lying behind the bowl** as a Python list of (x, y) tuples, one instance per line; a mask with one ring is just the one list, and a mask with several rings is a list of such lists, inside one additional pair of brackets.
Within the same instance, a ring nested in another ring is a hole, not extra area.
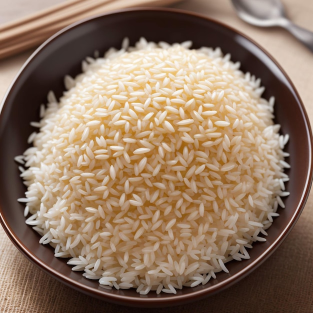
[(178, 0), (67, 0), (16, 21), (0, 24), (0, 58), (42, 43), (63, 27), (92, 15), (135, 6), (161, 6)]

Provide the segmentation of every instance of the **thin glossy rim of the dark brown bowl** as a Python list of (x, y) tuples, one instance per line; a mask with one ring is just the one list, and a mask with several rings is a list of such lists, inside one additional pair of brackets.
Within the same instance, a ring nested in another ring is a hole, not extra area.
[[(293, 225), (299, 218), (305, 202), (307, 200), (307, 197), (309, 195), (310, 187), (313, 180), (313, 164), (312, 164), (312, 142), (313, 142), (313, 136), (312, 136), (312, 130), (310, 127), (310, 122), (308, 119), (308, 115), (306, 113), (304, 104), (294, 86), (291, 79), (287, 75), (287, 73), (284, 71), (284, 69), (280, 66), (280, 64), (276, 61), (276, 59), (267, 52), (261, 45), (259, 45), (256, 41), (254, 41), (252, 38), (247, 36), (246, 34), (242, 33), (241, 31), (235, 29), (234, 27), (225, 24), (221, 21), (215, 20), (211, 17), (208, 17), (201, 13), (196, 13), (193, 11), (185, 10), (185, 9), (178, 9), (178, 8), (169, 8), (169, 7), (150, 7), (150, 6), (140, 6), (140, 7), (133, 7), (133, 8), (124, 8), (124, 9), (117, 9), (117, 10), (111, 10), (105, 13), (96, 14), (91, 17), (83, 18), (81, 20), (78, 20), (74, 23), (71, 23), (70, 25), (60, 29), (59, 31), (55, 32), (53, 35), (51, 35), (49, 38), (47, 38), (42, 44), (40, 44), (26, 59), (26, 61), (23, 63), (23, 65), (20, 67), (16, 75), (14, 76), (13, 80), (11, 81), (9, 87), (7, 88), (2, 101), (0, 102), (0, 120), (2, 116), (2, 112), (4, 108), (6, 107), (6, 99), (8, 98), (10, 92), (14, 88), (14, 85), (20, 78), (20, 75), (23, 73), (23, 71), (28, 67), (28, 65), (32, 62), (32, 60), (37, 56), (37, 54), (40, 53), (41, 50), (45, 49), (47, 46), (53, 43), (54, 39), (56, 39), (59, 36), (62, 36), (65, 32), (70, 31), (71, 29), (83, 24), (87, 23), (91, 20), (95, 20), (97, 18), (103, 18), (107, 15), (118, 15), (118, 14), (124, 14), (130, 11), (161, 11), (161, 12), (172, 12), (175, 14), (181, 14), (181, 15), (188, 15), (192, 16), (198, 19), (205, 19), (212, 23), (215, 23), (223, 28), (226, 28), (230, 30), (234, 34), (238, 34), (242, 36), (243, 38), (247, 39), (252, 43), (260, 52), (262, 52), (267, 58), (269, 58), (275, 66), (279, 69), (279, 71), (282, 73), (282, 75), (286, 78), (288, 83), (290, 84), (292, 88), (292, 92), (294, 93), (294, 97), (299, 102), (299, 108), (301, 110), (303, 119), (305, 121), (305, 128), (307, 133), (307, 140), (309, 145), (309, 155), (308, 155), (308, 167), (309, 171), (307, 172), (306, 179), (305, 179), (305, 188), (302, 191), (301, 199), (297, 205), (297, 207), (294, 210), (294, 213), (292, 214), (292, 218), (290, 218), (288, 224), (284, 227), (283, 231), (279, 234), (279, 236), (265, 249), (263, 253), (258, 255), (252, 262), (250, 262), (247, 266), (245, 266), (243, 269), (239, 270), (235, 274), (230, 275), (228, 278), (215, 283), (214, 285), (211, 285), (210, 288), (203, 288), (200, 290), (196, 290), (194, 292), (185, 293), (185, 294), (172, 294), (167, 295), (166, 297), (132, 297), (128, 295), (121, 295), (121, 294), (114, 294), (114, 293), (104, 293), (103, 290), (95, 289), (94, 287), (91, 287), (89, 285), (81, 284), (80, 282), (70, 278), (69, 276), (66, 276), (54, 268), (50, 267), (49, 264), (46, 264), (41, 259), (36, 257), (31, 250), (29, 250), (23, 242), (18, 238), (17, 235), (13, 232), (12, 228), (8, 224), (7, 220), (5, 219), (4, 215), (2, 214), (2, 208), (0, 206), (0, 223), (5, 230), (7, 236), (10, 238), (12, 243), (17, 247), (17, 249), (32, 263), (34, 263), (36, 266), (38, 266), (41, 270), (46, 272), (47, 274), (51, 275), (55, 279), (58, 279), (62, 283), (64, 283), (67, 286), (70, 286), (80, 292), (84, 292), (88, 295), (91, 295), (93, 297), (102, 299), (102, 300), (108, 300), (110, 302), (114, 302), (121, 305), (130, 305), (130, 306), (151, 306), (152, 304), (158, 307), (161, 306), (169, 306), (169, 305), (178, 305), (183, 304), (186, 302), (199, 300), (201, 298), (207, 297), (208, 295), (215, 294), (221, 290), (224, 290), (225, 288), (228, 288), (229, 286), (233, 285), (237, 281), (244, 278), (246, 275), (248, 275), (252, 270), (257, 268), (260, 264), (262, 264), (277, 248), (278, 246), (283, 242), (285, 237), (288, 235), (288, 233), (291, 231)], [(38, 243), (39, 244), (39, 243)], [(173, 303), (174, 302), (174, 303)]]

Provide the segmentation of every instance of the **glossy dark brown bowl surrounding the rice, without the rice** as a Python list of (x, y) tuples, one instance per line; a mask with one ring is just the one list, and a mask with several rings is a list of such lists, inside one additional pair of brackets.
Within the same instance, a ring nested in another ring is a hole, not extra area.
[[(181, 42), (192, 40), (193, 47), (220, 46), (241, 62), (243, 71), (260, 77), (266, 87), (263, 96), (276, 98), (276, 122), (281, 132), (289, 133), (286, 150), (291, 164), (285, 209), (268, 229), (266, 242), (255, 243), (251, 258), (231, 261), (229, 273), (193, 288), (184, 287), (177, 294), (150, 292), (139, 295), (133, 289), (104, 290), (97, 281), (71, 271), (64, 259), (55, 258), (53, 249), (38, 243), (39, 235), (24, 222), (23, 205), (16, 199), (25, 188), (19, 177), (15, 155), (27, 147), (32, 132), (29, 122), (38, 120), (40, 103), (52, 89), (57, 96), (63, 90), (63, 76), (80, 72), (80, 61), (94, 50), (120, 47), (128, 36), (134, 43), (140, 36), (148, 40)], [(117, 11), (75, 23), (53, 35), (26, 61), (4, 97), (0, 115), (0, 219), (16, 247), (46, 273), (86, 294), (132, 306), (169, 306), (198, 300), (234, 284), (260, 265), (285, 239), (298, 219), (312, 180), (312, 134), (304, 106), (285, 72), (260, 46), (236, 30), (194, 13), (173, 9), (134, 9)], [(261, 286), (260, 286), (261, 287)]]

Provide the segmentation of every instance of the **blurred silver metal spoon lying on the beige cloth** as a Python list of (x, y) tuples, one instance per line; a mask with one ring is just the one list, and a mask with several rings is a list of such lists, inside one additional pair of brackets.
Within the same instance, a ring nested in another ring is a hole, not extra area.
[(280, 0), (231, 0), (237, 15), (255, 26), (287, 29), (313, 52), (313, 32), (293, 24)]

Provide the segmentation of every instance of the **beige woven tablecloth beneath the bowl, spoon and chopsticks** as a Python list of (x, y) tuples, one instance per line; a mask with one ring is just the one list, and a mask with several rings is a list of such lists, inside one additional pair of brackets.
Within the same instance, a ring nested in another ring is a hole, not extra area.
[[(61, 0), (10, 0), (0, 22)], [(4, 2), (4, 1), (3, 1)], [(313, 1), (283, 0), (288, 16), (313, 31)], [(242, 31), (261, 44), (285, 69), (313, 121), (313, 53), (279, 28), (245, 24), (228, 0), (185, 0), (173, 7), (206, 14)], [(209, 34), (208, 34), (209, 35)], [(0, 61), (0, 99), (31, 51)], [(56, 281), (25, 259), (0, 227), (0, 312), (313, 312), (313, 194), (277, 251), (234, 286), (207, 299), (163, 309), (110, 304)]]

